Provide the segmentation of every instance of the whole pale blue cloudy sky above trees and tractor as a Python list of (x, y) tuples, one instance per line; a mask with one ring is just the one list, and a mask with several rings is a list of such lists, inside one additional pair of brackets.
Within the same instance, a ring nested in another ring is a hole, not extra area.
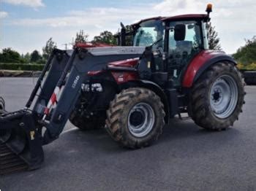
[(256, 36), (255, 0), (1, 0), (0, 49), (42, 52), (50, 37), (64, 49), (80, 29), (91, 40), (105, 30), (116, 33), (120, 22), (205, 13), (207, 3), (213, 4), (211, 23), (225, 52), (236, 52), (244, 39)]

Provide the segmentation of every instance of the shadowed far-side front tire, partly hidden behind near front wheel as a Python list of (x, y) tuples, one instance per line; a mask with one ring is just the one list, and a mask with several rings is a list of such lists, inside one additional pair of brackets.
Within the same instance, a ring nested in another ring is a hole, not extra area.
[(91, 116), (89, 118), (82, 117), (73, 111), (70, 114), (69, 121), (80, 130), (94, 130), (104, 127), (105, 118), (98, 116)]

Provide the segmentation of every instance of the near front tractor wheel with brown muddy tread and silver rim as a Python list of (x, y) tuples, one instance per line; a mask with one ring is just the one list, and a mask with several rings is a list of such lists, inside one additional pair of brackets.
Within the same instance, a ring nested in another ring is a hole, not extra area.
[(138, 149), (157, 141), (165, 125), (165, 110), (159, 96), (146, 88), (122, 90), (107, 111), (105, 128), (123, 147)]

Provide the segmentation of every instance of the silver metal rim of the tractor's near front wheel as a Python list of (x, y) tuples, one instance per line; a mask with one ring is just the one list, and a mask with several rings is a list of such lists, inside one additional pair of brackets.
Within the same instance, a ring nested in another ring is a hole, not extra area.
[(139, 103), (132, 107), (128, 115), (128, 129), (135, 137), (148, 135), (154, 125), (154, 110), (149, 104)]

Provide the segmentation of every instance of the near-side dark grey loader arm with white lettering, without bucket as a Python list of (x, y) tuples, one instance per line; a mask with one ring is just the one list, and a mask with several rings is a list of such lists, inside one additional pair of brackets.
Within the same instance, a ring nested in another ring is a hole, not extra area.
[[(114, 50), (111, 52), (111, 49)], [(119, 54), (116, 50), (119, 50)], [(100, 51), (102, 50), (102, 51)], [(104, 50), (108, 50), (105, 52)], [(76, 48), (73, 52), (66, 68), (64, 69), (59, 82), (50, 98), (48, 106), (56, 107), (52, 109), (51, 114), (45, 110), (45, 134), (43, 136), (43, 144), (48, 144), (59, 137), (59, 134), (66, 124), (69, 114), (75, 107), (75, 103), (80, 96), (81, 85), (83, 82), (89, 81), (89, 71), (99, 71), (106, 69), (107, 63), (120, 61), (128, 58), (136, 58), (143, 52), (143, 47), (100, 47), (91, 50)], [(69, 76), (67, 73), (70, 69)], [(61, 91), (61, 95), (59, 93)], [(59, 97), (59, 99), (58, 99)]]

